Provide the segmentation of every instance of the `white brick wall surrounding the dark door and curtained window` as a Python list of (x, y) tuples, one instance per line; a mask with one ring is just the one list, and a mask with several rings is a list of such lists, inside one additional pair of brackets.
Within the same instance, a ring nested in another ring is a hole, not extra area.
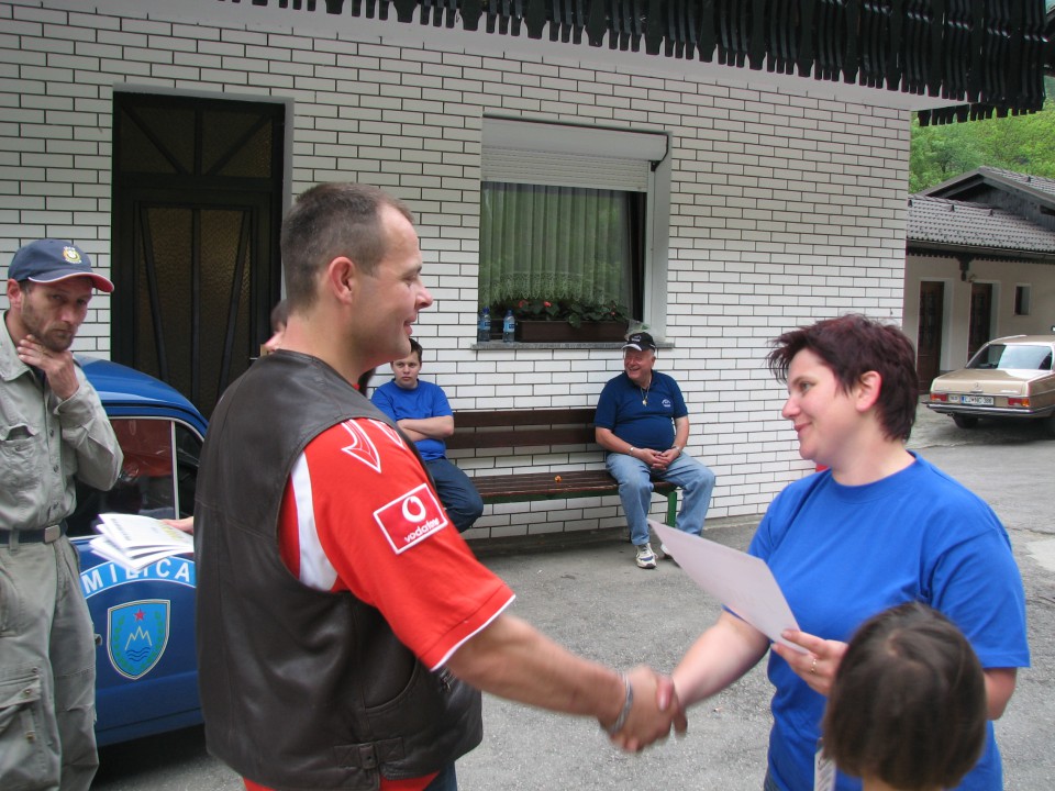
[[(425, 371), (456, 409), (588, 405), (620, 370), (617, 352), (470, 348), (482, 116), (667, 131), (669, 248), (666, 281), (657, 285), (667, 315), (654, 330), (674, 344), (658, 367), (685, 391), (688, 450), (718, 474), (712, 517), (758, 514), (809, 469), (779, 417), (781, 389), (763, 361), (767, 341), (849, 310), (900, 319), (904, 111), (465, 47), (356, 41), (354, 27), (313, 38), (288, 26), (92, 11), (144, 13), (118, 0), (59, 7), (69, 3), (0, 2), (0, 274), (21, 244), (43, 235), (74, 238), (109, 271), (114, 90), (270, 97), (292, 108), (290, 194), (318, 181), (362, 180), (418, 213), (437, 298), (419, 330)], [(77, 348), (106, 355), (109, 298), (92, 308)], [(532, 461), (554, 470), (599, 464), (575, 453), (528, 456), (459, 461), (497, 471)], [(590, 504), (502, 506), (480, 524), (512, 534), (621, 523), (614, 498)]]

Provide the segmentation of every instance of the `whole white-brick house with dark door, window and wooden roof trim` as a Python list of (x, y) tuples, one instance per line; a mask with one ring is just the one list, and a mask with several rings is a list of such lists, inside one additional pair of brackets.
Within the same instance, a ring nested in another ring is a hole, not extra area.
[[(591, 406), (619, 345), (478, 344), (481, 263), (530, 220), (524, 238), (568, 243), (574, 279), (575, 243), (598, 234), (546, 223), (620, 212), (609, 263), (685, 390), (687, 449), (718, 474), (709, 515), (753, 517), (812, 469), (769, 339), (847, 311), (901, 320), (912, 113), (1037, 109), (1055, 60), (1043, 0), (896, 5), (0, 0), (0, 267), (35, 237), (82, 245), (118, 290), (78, 350), (208, 413), (267, 335), (293, 196), (373, 183), (418, 216), (436, 304), (417, 333), (454, 406)], [(510, 190), (574, 199), (495, 211)], [(600, 464), (580, 447), (458, 461)], [(614, 498), (533, 508), (478, 530), (623, 523)]]

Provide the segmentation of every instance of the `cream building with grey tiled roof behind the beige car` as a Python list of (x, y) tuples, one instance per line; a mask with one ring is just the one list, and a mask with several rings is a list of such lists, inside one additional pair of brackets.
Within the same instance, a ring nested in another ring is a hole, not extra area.
[(921, 392), (990, 338), (1055, 332), (1055, 179), (981, 167), (910, 197), (902, 326)]

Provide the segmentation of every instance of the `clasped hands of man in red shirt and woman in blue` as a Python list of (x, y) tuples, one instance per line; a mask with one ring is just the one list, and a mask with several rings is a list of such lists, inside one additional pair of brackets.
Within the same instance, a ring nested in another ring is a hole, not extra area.
[(625, 695), (619, 714), (607, 722), (599, 717), (613, 744), (628, 753), (637, 753), (665, 739), (671, 727), (679, 736), (688, 731), (685, 708), (669, 677), (642, 665), (622, 678)]

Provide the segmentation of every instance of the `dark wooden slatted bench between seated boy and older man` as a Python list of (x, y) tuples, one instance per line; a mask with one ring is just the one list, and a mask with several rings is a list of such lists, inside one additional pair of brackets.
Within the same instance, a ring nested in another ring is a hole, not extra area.
[[(462, 410), (454, 413), (454, 435), (446, 438), (451, 450), (586, 445), (587, 449), (603, 453), (595, 438), (590, 408)], [(619, 483), (607, 469), (476, 475), (473, 483), (485, 503), (619, 493)], [(667, 498), (666, 522), (673, 526), (678, 515), (678, 489), (673, 483), (655, 481), (655, 491)]]

